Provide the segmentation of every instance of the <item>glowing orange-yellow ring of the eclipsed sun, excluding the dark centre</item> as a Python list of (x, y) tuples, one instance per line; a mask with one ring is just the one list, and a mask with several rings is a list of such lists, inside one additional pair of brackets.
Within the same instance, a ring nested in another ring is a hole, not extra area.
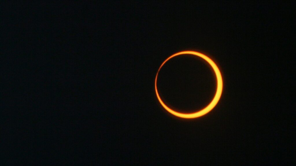
[[(213, 98), (213, 100), (210, 102), (209, 105), (207, 105), (205, 108), (203, 108), (202, 110), (197, 110), (195, 111), (194, 113), (179, 113), (175, 110), (172, 110), (171, 108), (169, 108), (167, 105), (165, 105), (165, 103), (163, 102), (163, 100), (161, 100), (160, 96), (158, 95), (158, 92), (157, 92), (157, 86), (156, 86), (156, 83), (157, 83), (157, 76), (158, 76), (158, 73), (160, 71), (160, 69), (162, 68), (162, 66), (165, 64), (165, 62), (167, 62), (168, 60), (170, 60), (171, 58), (175, 57), (175, 56), (178, 56), (178, 55), (182, 55), (182, 54), (192, 54), (192, 55), (195, 55), (195, 56), (199, 56), (201, 58), (203, 58), (205, 61), (207, 61), (211, 66), (212, 68), (214, 69), (215, 71), (215, 74), (216, 74), (216, 77), (217, 77), (217, 91), (216, 91), (216, 94), (215, 94), (215, 97)], [(223, 86), (223, 83), (222, 83), (222, 76), (221, 76), (221, 73), (220, 73), (220, 70), (219, 68), (217, 67), (217, 65), (207, 56), (205, 56), (204, 54), (202, 53), (199, 53), (199, 52), (195, 52), (195, 51), (182, 51), (182, 52), (178, 52), (178, 53), (175, 53), (174, 55), (168, 57), (164, 62), (163, 64), (161, 64), (161, 66), (159, 67), (158, 71), (157, 71), (157, 74), (156, 74), (156, 77), (155, 77), (155, 92), (156, 92), (156, 96), (160, 102), (160, 104), (163, 106), (163, 108), (165, 108), (169, 113), (175, 115), (175, 116), (178, 116), (178, 117), (181, 117), (181, 118), (197, 118), (197, 117), (200, 117), (202, 115), (205, 115), (206, 113), (210, 112), (214, 107), (215, 105), (218, 103), (220, 97), (221, 97), (221, 94), (222, 94), (222, 86)]]

